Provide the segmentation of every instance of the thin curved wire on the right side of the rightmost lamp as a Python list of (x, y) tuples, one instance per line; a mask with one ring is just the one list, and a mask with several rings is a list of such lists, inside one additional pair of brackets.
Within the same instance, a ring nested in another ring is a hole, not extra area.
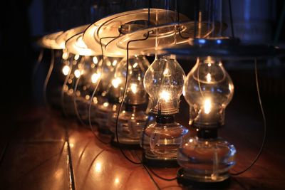
[(257, 58), (254, 59), (254, 73), (255, 73), (255, 82), (257, 84), (257, 96), (259, 98), (259, 106), (260, 106), (260, 110), (261, 110), (261, 114), (262, 114), (262, 118), (263, 118), (263, 122), (264, 122), (264, 132), (263, 132), (263, 139), (262, 139), (262, 143), (261, 143), (261, 147), (259, 149), (259, 153), (257, 154), (257, 157), (255, 157), (255, 159), (252, 161), (251, 164), (249, 164), (249, 166), (247, 168), (245, 168), (242, 171), (238, 171), (237, 173), (230, 173), (232, 176), (238, 176), (240, 174), (243, 174), (245, 171), (249, 170), (259, 159), (261, 153), (264, 150), (264, 144), (266, 142), (266, 130), (267, 130), (267, 126), (266, 126), (266, 117), (264, 114), (264, 109), (262, 106), (262, 102), (261, 102), (261, 96), (260, 96), (260, 92), (259, 92), (259, 81), (258, 81), (258, 76), (257, 76)]

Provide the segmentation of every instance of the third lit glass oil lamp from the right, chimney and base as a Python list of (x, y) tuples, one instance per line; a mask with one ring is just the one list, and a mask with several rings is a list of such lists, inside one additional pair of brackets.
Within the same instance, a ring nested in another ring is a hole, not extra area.
[[(118, 84), (120, 98), (123, 97), (125, 88), (126, 61), (126, 58), (121, 60), (115, 70), (115, 78), (120, 81), (120, 84)], [(147, 115), (143, 107), (147, 99), (143, 87), (143, 78), (150, 63), (145, 56), (131, 56), (128, 61), (128, 85), (124, 100), (125, 108), (122, 109), (118, 117), (118, 139), (120, 144), (135, 148), (139, 147), (141, 132), (147, 121)], [(118, 113), (115, 112), (110, 120), (110, 130), (114, 134), (114, 143), (118, 143), (115, 132), (117, 115)]]

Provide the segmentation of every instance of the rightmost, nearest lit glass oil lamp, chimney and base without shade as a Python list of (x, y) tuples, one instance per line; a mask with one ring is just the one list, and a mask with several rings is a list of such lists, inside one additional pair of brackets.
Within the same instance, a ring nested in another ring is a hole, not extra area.
[(190, 105), (189, 125), (197, 136), (187, 139), (178, 150), (180, 172), (190, 181), (220, 182), (229, 178), (236, 149), (218, 137), (224, 125), (225, 108), (232, 100), (234, 85), (219, 58), (197, 58), (187, 75), (183, 95)]

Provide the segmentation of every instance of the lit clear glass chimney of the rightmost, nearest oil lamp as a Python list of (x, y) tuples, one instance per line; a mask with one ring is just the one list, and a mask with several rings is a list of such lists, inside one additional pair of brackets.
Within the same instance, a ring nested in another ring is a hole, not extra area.
[(222, 62), (210, 56), (198, 58), (183, 88), (190, 105), (190, 125), (208, 128), (224, 125), (224, 109), (233, 94), (232, 79)]

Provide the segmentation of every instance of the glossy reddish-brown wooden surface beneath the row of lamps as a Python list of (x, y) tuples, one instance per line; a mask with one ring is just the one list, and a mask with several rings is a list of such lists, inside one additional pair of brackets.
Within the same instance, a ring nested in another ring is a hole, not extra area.
[[(257, 111), (244, 106), (233, 100), (227, 126), (219, 132), (237, 148), (232, 172), (252, 162), (262, 139), (258, 106)], [(177, 120), (186, 125), (187, 107), (181, 110)], [(1, 127), (0, 189), (195, 189), (159, 179), (142, 165), (128, 162), (118, 148), (56, 110), (28, 107), (19, 113)], [(258, 162), (244, 174), (232, 176), (227, 189), (284, 189), (285, 140), (270, 129), (268, 136)], [(141, 150), (125, 150), (125, 154), (140, 162)], [(177, 169), (152, 170), (171, 179)]]

